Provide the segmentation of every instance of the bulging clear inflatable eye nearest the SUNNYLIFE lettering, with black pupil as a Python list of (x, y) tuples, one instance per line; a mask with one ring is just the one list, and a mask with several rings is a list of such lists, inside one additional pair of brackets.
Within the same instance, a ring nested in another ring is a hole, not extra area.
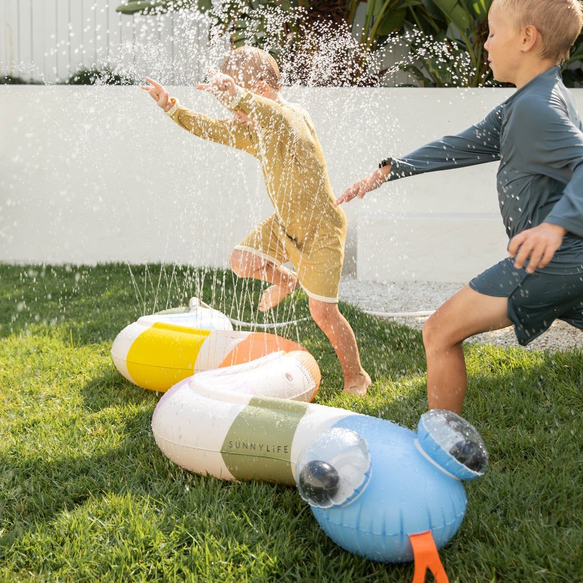
[(296, 464), (297, 488), (316, 508), (346, 505), (366, 488), (370, 466), (364, 438), (356, 431), (335, 427), (301, 451)]

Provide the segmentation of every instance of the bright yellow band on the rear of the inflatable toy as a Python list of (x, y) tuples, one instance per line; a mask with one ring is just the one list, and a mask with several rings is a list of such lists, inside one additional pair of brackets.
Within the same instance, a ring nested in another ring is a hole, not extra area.
[(140, 387), (167, 391), (194, 374), (196, 358), (210, 330), (156, 322), (134, 340), (126, 360)]

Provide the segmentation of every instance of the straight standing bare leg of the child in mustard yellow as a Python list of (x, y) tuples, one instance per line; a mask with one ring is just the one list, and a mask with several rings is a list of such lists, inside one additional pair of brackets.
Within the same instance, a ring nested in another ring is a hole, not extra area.
[(338, 304), (310, 298), (310, 314), (322, 332), (328, 336), (342, 366), (344, 392), (366, 395), (371, 380), (360, 366), (359, 349), (354, 332), (346, 318), (340, 314)]

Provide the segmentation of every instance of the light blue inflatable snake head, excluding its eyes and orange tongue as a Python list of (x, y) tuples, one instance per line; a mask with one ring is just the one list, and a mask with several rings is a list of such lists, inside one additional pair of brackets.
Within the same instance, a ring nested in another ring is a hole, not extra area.
[(414, 431), (362, 415), (347, 416), (334, 427), (360, 434), (371, 456), (370, 482), (360, 496), (344, 507), (312, 507), (337, 545), (399, 563), (413, 560), (410, 534), (430, 529), (438, 549), (455, 535), (466, 508), (463, 484), (418, 451)]

